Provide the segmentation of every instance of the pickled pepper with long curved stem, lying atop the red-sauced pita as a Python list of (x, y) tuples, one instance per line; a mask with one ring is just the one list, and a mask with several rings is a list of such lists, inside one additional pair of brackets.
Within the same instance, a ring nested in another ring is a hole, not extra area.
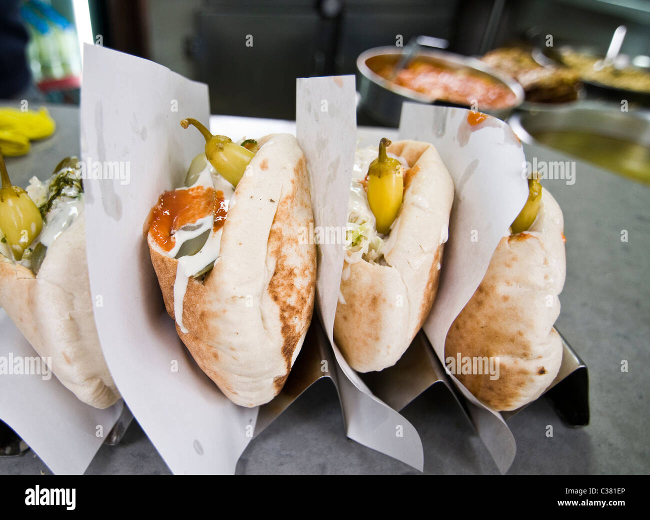
[(212, 135), (203, 124), (196, 119), (187, 118), (181, 121), (181, 126), (187, 128), (190, 124), (196, 126), (205, 138), (205, 156), (214, 166), (214, 169), (230, 184), (237, 187), (244, 170), (255, 156), (225, 135)]

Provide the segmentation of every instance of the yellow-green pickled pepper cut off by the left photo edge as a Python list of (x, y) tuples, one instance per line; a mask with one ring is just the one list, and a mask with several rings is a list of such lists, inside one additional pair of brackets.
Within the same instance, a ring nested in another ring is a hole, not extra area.
[(27, 191), (13, 186), (6, 171), (5, 159), (0, 152), (0, 230), (14, 253), (16, 260), (23, 258), (25, 249), (29, 247), (42, 228), (43, 219), (36, 204), (29, 198)]

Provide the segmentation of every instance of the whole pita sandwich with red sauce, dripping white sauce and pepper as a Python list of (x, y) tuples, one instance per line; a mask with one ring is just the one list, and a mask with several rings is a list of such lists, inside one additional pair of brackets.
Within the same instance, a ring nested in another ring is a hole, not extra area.
[[(232, 402), (282, 389), (311, 321), (316, 249), (304, 154), (293, 135), (205, 137), (185, 186), (145, 225), (168, 314), (201, 370)], [(311, 226), (310, 226), (311, 225)]]

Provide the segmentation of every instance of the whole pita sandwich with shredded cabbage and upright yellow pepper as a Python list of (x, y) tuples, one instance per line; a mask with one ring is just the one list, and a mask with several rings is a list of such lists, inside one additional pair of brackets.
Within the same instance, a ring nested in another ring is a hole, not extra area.
[(454, 182), (434, 146), (357, 150), (334, 338), (357, 372), (393, 366), (434, 303)]

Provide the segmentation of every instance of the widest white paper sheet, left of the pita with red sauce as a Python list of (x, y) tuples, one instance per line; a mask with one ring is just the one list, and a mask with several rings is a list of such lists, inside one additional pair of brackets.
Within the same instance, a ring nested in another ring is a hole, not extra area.
[(150, 61), (85, 46), (82, 160), (129, 166), (85, 180), (95, 320), (110, 372), (174, 473), (233, 473), (257, 408), (231, 403), (205, 376), (164, 309), (142, 225), (159, 195), (183, 183), (203, 150), (182, 118), (207, 123), (207, 86)]

